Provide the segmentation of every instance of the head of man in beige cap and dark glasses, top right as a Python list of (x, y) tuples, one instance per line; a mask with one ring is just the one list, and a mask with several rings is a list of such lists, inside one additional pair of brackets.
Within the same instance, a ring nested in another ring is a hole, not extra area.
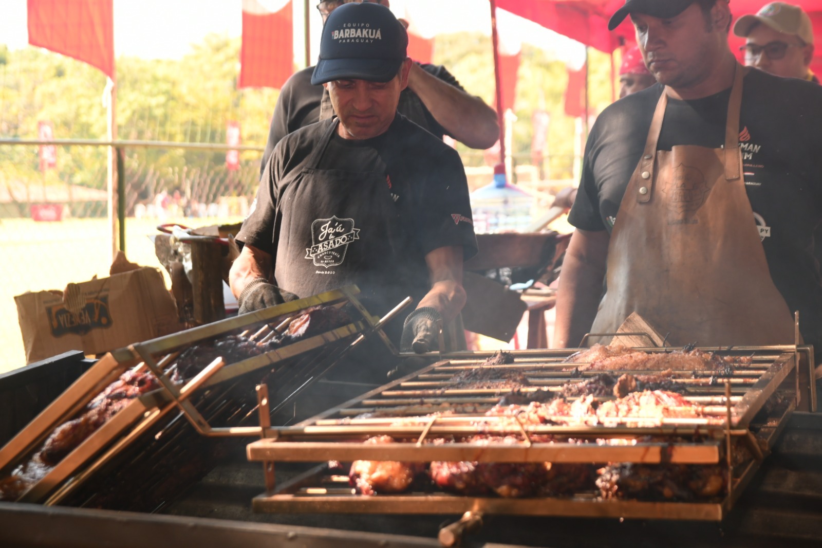
[(756, 15), (741, 16), (733, 34), (746, 39), (745, 64), (775, 76), (820, 83), (810, 70), (814, 58), (814, 29), (799, 6), (766, 4)]

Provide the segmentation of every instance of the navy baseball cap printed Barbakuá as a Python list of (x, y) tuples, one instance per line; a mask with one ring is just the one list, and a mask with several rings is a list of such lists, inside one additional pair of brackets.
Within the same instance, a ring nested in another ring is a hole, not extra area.
[(322, 27), (311, 83), (390, 81), (406, 58), (409, 35), (390, 9), (373, 2), (336, 8)]

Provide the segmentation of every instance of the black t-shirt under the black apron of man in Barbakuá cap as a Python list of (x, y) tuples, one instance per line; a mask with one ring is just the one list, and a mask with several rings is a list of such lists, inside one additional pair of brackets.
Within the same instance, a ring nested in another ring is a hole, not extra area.
[[(281, 210), (291, 207), (290, 202), (284, 199), (278, 211), (278, 197), (289, 196), (289, 185), (308, 167), (312, 151), (334, 123), (335, 120), (324, 120), (298, 129), (275, 146), (252, 212), (239, 231), (239, 241), (277, 258), (278, 246), (290, 241), (279, 231)], [(399, 289), (404, 291), (404, 295), (419, 298), (430, 286), (425, 263), (427, 253), (447, 246), (461, 246), (465, 259), (477, 253), (468, 183), (459, 155), (401, 114), (397, 114), (388, 130), (378, 137), (363, 141), (332, 137), (316, 169), (354, 173), (367, 171), (385, 177), (386, 192), (390, 193), (390, 200), (399, 211), (398, 220), (393, 223), (393, 226), (399, 227), (393, 238), (399, 241), (390, 242), (390, 248), (400, 250), (404, 265), (388, 265), (394, 269), (392, 275), (387, 276), (390, 279), (381, 279), (370, 285), (390, 289), (397, 284), (410, 284), (413, 288)], [(379, 203), (376, 197), (374, 202)], [(344, 211), (333, 213), (341, 217)], [(302, 211), (298, 215), (303, 215)], [(365, 237), (360, 235), (361, 240)], [(292, 245), (302, 248), (301, 239), (310, 240), (311, 235), (291, 235), (291, 238), (294, 240)], [(368, 262), (379, 264), (382, 268), (386, 260), (389, 259), (385, 256), (372, 256)], [(286, 267), (288, 265), (275, 265), (275, 272), (282, 272), (281, 269)], [(367, 269), (367, 265), (358, 268)], [(325, 275), (326, 272), (321, 274), (324, 275), (317, 273), (316, 280), (301, 278), (302, 290), (293, 290), (286, 284), (283, 284), (284, 289), (304, 297), (332, 288), (335, 278)], [(282, 277), (277, 276), (279, 283), (282, 283)], [(363, 289), (366, 288), (361, 287)]]

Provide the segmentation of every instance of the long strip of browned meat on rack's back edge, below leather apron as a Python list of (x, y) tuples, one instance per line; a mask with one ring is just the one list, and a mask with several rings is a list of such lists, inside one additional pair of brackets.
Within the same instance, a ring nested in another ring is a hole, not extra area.
[(588, 350), (570, 355), (565, 363), (579, 364), (580, 371), (618, 371), (666, 369), (685, 371), (712, 371), (716, 374), (731, 374), (733, 365), (749, 364), (750, 358), (720, 356), (711, 352), (683, 349), (671, 352), (644, 352), (628, 346), (594, 345)]

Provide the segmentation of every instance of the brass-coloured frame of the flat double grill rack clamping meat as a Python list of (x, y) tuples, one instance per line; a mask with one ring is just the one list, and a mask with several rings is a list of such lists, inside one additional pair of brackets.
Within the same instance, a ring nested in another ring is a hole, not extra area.
[[(533, 369), (533, 360), (563, 359), (580, 349), (563, 351), (512, 351), (515, 364), (510, 368)], [(649, 352), (681, 350), (677, 348), (638, 348)], [(476, 444), (424, 444), (426, 437), (446, 434), (466, 434), (472, 431), (466, 423), (479, 419), (480, 416), (455, 417), (450, 425), (448, 420), (431, 420), (420, 425), (402, 425), (386, 427), (377, 423), (387, 420), (363, 420), (361, 424), (340, 424), (346, 416), (358, 415), (376, 409), (391, 409), (379, 405), (382, 398), (401, 396), (402, 388), (420, 388), (420, 382), (427, 381), (427, 375), (436, 375), (438, 371), (453, 374), (454, 368), (478, 365), (480, 358), (491, 353), (456, 352), (448, 355), (450, 360), (441, 360), (427, 368), (388, 383), (381, 388), (354, 398), (341, 406), (332, 408), (299, 425), (266, 429), (265, 439), (247, 446), (247, 457), (250, 461), (263, 462), (266, 470), (266, 492), (252, 500), (252, 508), (257, 512), (294, 512), (294, 513), (483, 513), (566, 516), (590, 518), (654, 518), (721, 521), (732, 509), (742, 490), (750, 482), (755, 471), (760, 467), (762, 458), (773, 448), (778, 435), (787, 424), (787, 418), (796, 409), (799, 395), (799, 375), (797, 365), (800, 355), (807, 354), (805, 347), (798, 346), (758, 346), (727, 348), (699, 348), (701, 351), (716, 351), (720, 354), (755, 355), (770, 362), (764, 373), (757, 375), (755, 383), (747, 388), (741, 397), (731, 396), (731, 384), (724, 383), (727, 415), (713, 424), (705, 425), (656, 425), (653, 427), (618, 426), (533, 426), (512, 424), (500, 425), (500, 434), (522, 434), (524, 443), (512, 446), (506, 444), (487, 444), (478, 447)], [(810, 359), (812, 355), (803, 356)], [(567, 364), (564, 365), (567, 367)], [(506, 367), (506, 366), (494, 366)], [(450, 368), (450, 369), (449, 369)], [(556, 366), (554, 369), (559, 369)], [(593, 371), (589, 376), (604, 373)], [(619, 372), (620, 374), (623, 372)], [(653, 371), (636, 372), (653, 374)], [(588, 375), (586, 375), (588, 376)], [(794, 377), (794, 378), (791, 378)], [(420, 379), (423, 380), (420, 380)], [(557, 378), (556, 380), (566, 380)], [(721, 385), (719, 388), (722, 388)], [(757, 412), (777, 390), (787, 393), (782, 405), (775, 406), (762, 424), (752, 425)], [(447, 391), (447, 388), (445, 389)], [(491, 390), (492, 391), (492, 390)], [(433, 392), (436, 392), (434, 390)], [(472, 392), (470, 389), (464, 392)], [(483, 392), (483, 391), (473, 391)], [(489, 391), (485, 391), (489, 392)], [(506, 392), (503, 390), (502, 392)], [(738, 392), (738, 390), (737, 390)], [(426, 397), (430, 394), (417, 394)], [(480, 405), (496, 401), (498, 397), (480, 394), (469, 397), (463, 393), (441, 396), (459, 396), (459, 405)], [(433, 397), (433, 396), (432, 396)], [(410, 398), (409, 398), (410, 399)], [(717, 399), (717, 398), (714, 398)], [(440, 400), (433, 400), (439, 403)], [(409, 402), (404, 402), (409, 403)], [(395, 406), (401, 409), (402, 406)], [(435, 411), (425, 406), (425, 401), (417, 406), (406, 407), (414, 411)], [(262, 411), (261, 411), (262, 412)], [(396, 416), (397, 419), (403, 415)], [(460, 419), (462, 420), (460, 422)], [(755, 426), (756, 433), (751, 430)], [(473, 431), (477, 432), (476, 426)], [(394, 444), (362, 444), (362, 440), (372, 435), (387, 434), (395, 438), (417, 439), (417, 442), (397, 442)], [(624, 437), (662, 435), (685, 438), (686, 441), (671, 443), (639, 443), (630, 446), (581, 445), (552, 443), (530, 443), (532, 434), (579, 434), (597, 437)], [(694, 439), (696, 436), (699, 441)], [(729, 467), (727, 494), (721, 499), (697, 502), (646, 502), (640, 500), (609, 499), (603, 500), (593, 494), (573, 497), (536, 497), (528, 499), (502, 499), (498, 497), (473, 497), (450, 495), (440, 491), (434, 493), (410, 493), (403, 495), (356, 495), (346, 483), (346, 476), (330, 474), (326, 465), (313, 468), (293, 481), (279, 486), (274, 482), (275, 462), (319, 462), (321, 460), (386, 460), (404, 462), (432, 461), (477, 461), (477, 462), (644, 462), (644, 463), (689, 463), (716, 464), (732, 462), (732, 438), (740, 438), (748, 443), (755, 456), (749, 462), (737, 467)], [(721, 445), (726, 445), (723, 456)], [(329, 475), (330, 474), (330, 475)], [(329, 480), (331, 478), (331, 480)], [(324, 486), (325, 485), (325, 486)]]

